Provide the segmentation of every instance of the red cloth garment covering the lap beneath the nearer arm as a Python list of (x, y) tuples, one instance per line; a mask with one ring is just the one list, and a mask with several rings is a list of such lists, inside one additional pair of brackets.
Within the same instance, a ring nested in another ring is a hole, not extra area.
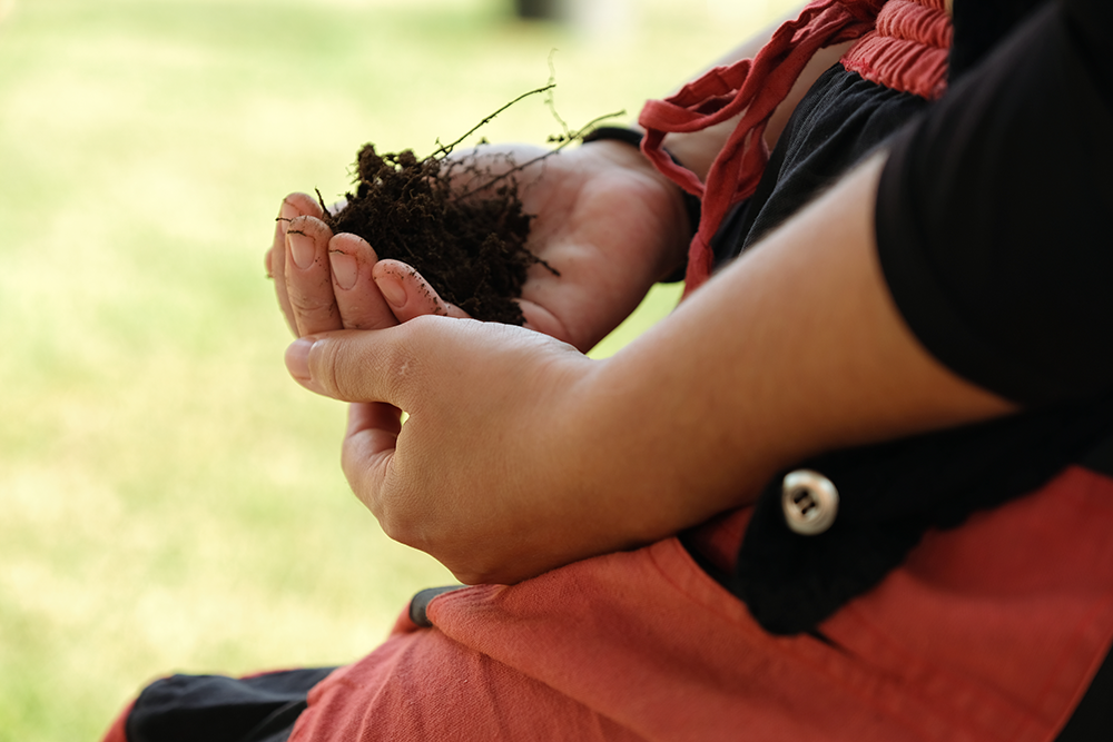
[(1070, 468), (929, 532), (817, 636), (762, 631), (674, 538), (446, 593), (290, 741), (1052, 740), (1113, 642), (1111, 526), (1113, 481)]

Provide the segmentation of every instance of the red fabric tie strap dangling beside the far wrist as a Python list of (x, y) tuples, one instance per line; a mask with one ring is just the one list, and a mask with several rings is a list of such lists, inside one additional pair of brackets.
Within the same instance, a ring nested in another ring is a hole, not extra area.
[[(769, 159), (762, 133), (774, 110), (817, 50), (861, 37), (874, 28), (883, 4), (885, 0), (815, 0), (798, 19), (777, 29), (754, 59), (717, 67), (642, 109), (642, 151), (658, 170), (702, 200), (702, 219), (688, 251), (684, 296), (711, 275), (711, 237), (727, 211), (757, 188)], [(706, 184), (661, 149), (667, 133), (700, 131), (742, 111)]]

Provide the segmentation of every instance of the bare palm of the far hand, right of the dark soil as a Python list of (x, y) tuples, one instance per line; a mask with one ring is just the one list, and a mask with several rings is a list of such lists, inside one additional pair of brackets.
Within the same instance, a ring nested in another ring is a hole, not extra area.
[(522, 314), (528, 327), (587, 352), (682, 265), (693, 226), (679, 189), (630, 145), (593, 141), (538, 160), (545, 151), (485, 146), (472, 157), (494, 172), (532, 162), (512, 174), (535, 216), (528, 247), (560, 275), (530, 269)]

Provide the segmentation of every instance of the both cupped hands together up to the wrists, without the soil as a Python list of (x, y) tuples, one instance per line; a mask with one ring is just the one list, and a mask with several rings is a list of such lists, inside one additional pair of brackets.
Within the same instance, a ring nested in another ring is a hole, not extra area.
[[(509, 169), (543, 151), (481, 156)], [(628, 145), (592, 142), (514, 177), (536, 215), (530, 248), (561, 273), (531, 269), (529, 329), (460, 320), (410, 266), (333, 235), (304, 194), (283, 201), (266, 256), (294, 334), (317, 340), (292, 346), (290, 372), (353, 403), (343, 462), (356, 495), (390, 535), (473, 583), (515, 582), (646, 540), (615, 507), (622, 497), (592, 495), (598, 481), (578, 471), (585, 457), (569, 451), (591, 425), (574, 389), (593, 362), (577, 350), (682, 261), (688, 235), (679, 191)], [(383, 332), (321, 337), (337, 329)], [(332, 386), (308, 380), (315, 357), (346, 364), (325, 372)]]

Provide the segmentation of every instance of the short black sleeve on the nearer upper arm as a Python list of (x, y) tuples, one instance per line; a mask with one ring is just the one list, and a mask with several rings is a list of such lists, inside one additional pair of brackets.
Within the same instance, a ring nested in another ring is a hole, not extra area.
[(1014, 400), (1113, 389), (1110, 0), (1047, 2), (895, 138), (878, 253), (912, 330)]

